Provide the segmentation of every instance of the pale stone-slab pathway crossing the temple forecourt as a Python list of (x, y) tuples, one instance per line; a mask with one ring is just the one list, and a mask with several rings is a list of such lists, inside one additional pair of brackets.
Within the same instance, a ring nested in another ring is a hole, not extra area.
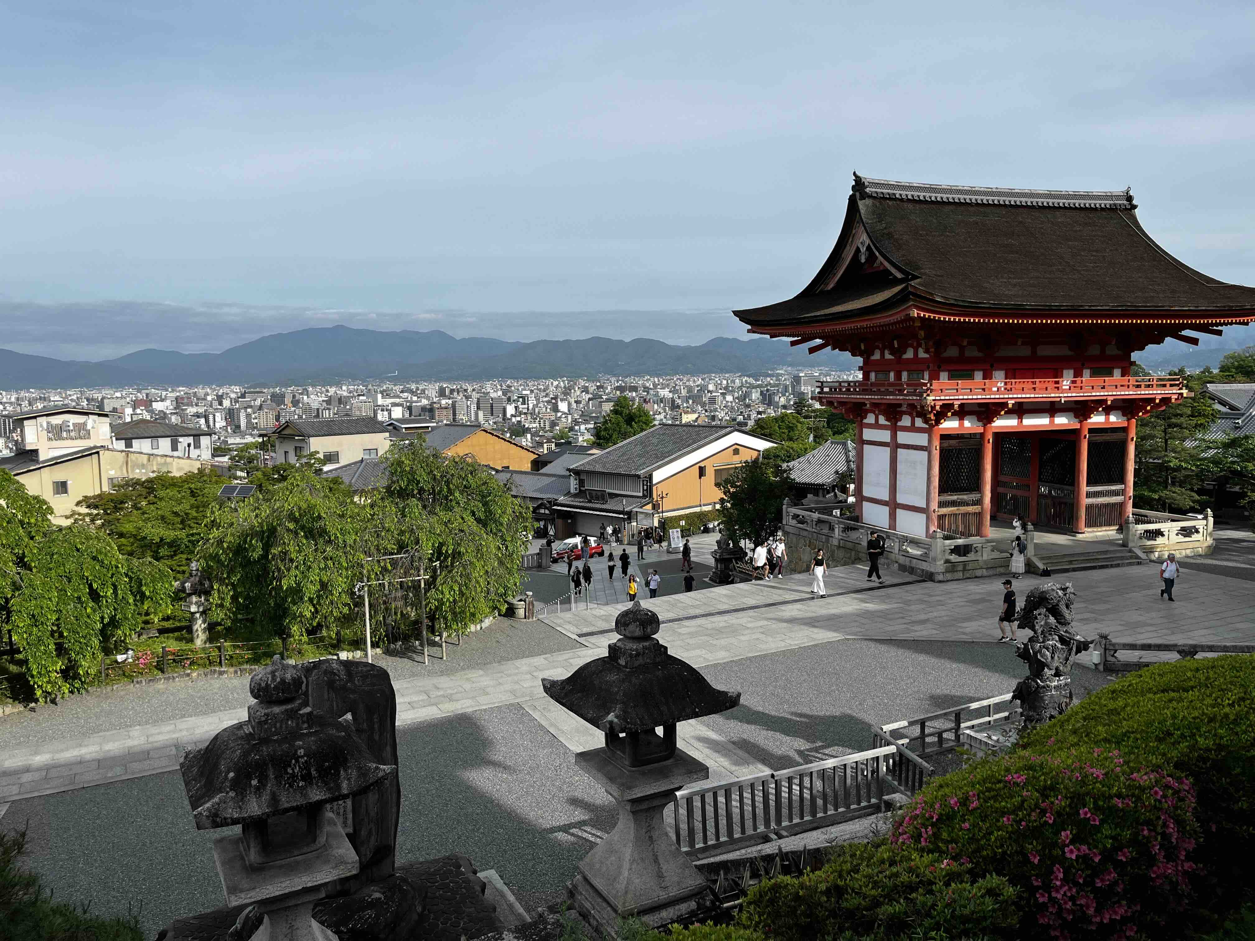
[[(604, 576), (605, 566), (601, 570)], [(661, 640), (670, 651), (699, 667), (843, 637), (996, 640), (999, 580), (931, 583), (896, 572), (886, 572), (886, 580), (885, 586), (868, 585), (861, 568), (847, 566), (830, 572), (826, 598), (812, 597), (809, 576), (801, 575), (646, 598), (644, 603), (663, 619)], [(1077, 587), (1078, 626), (1088, 636), (1102, 630), (1126, 641), (1255, 641), (1255, 583), (1249, 581), (1185, 568), (1177, 583), (1177, 602), (1168, 603), (1158, 597), (1153, 566), (1074, 572), (1064, 580)], [(1030, 577), (1015, 582), (1022, 600), (1034, 583), (1038, 581)], [(398, 681), (398, 725), (537, 700), (541, 678), (570, 675), (602, 655), (614, 639), (614, 619), (622, 607), (624, 602), (610, 603), (546, 619), (584, 645), (577, 650)], [(176, 768), (186, 748), (243, 719), (243, 705), (178, 721), (8, 749), (0, 757), (0, 802)], [(553, 731), (561, 726), (555, 723), (546, 728)], [(553, 734), (562, 739), (557, 731)], [(569, 738), (571, 747), (582, 742), (574, 733)], [(715, 742), (707, 752), (727, 769), (739, 760)]]

